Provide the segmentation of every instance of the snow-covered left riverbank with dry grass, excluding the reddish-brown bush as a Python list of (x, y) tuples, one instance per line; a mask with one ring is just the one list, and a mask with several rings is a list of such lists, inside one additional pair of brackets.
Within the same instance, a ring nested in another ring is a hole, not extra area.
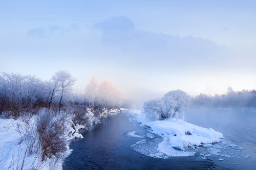
[[(90, 110), (85, 113), (85, 124), (74, 124), (74, 115), (66, 112), (56, 114), (55, 118), (65, 115), (65, 132), (60, 136), (65, 139), (63, 152), (57, 155), (46, 157), (42, 161), (42, 147), (38, 138), (37, 122), (40, 116), (45, 115), (48, 109), (41, 109), (38, 114), (32, 115), (29, 121), (20, 117), (17, 120), (12, 118), (0, 118), (0, 169), (62, 169), (63, 160), (68, 157), (72, 150), (69, 149), (71, 139), (83, 138), (82, 130), (89, 126), (100, 123), (100, 117), (108, 114), (117, 114), (117, 109), (106, 110), (97, 116)], [(47, 115), (46, 115), (47, 116)], [(49, 119), (50, 122), (50, 119)], [(54, 140), (51, 139), (50, 140)]]

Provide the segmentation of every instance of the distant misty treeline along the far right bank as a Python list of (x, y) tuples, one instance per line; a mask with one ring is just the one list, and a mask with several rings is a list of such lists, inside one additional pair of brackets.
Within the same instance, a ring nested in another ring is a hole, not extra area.
[(206, 107), (232, 107), (232, 108), (255, 108), (256, 90), (234, 91), (229, 87), (226, 94), (207, 95), (200, 94), (191, 99), (192, 106)]

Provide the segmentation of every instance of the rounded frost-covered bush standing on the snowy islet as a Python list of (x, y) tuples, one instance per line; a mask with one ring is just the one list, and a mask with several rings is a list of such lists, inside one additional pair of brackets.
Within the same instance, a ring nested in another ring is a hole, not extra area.
[(184, 110), (189, 104), (189, 95), (182, 90), (173, 90), (164, 94), (162, 99), (144, 103), (147, 116), (163, 120), (169, 117), (184, 119)]

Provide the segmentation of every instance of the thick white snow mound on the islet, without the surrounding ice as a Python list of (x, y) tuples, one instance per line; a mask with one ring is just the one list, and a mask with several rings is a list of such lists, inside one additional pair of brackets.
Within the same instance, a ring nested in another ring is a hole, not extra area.
[[(153, 133), (165, 138), (168, 145), (187, 151), (187, 146), (220, 142), (223, 135), (213, 129), (202, 128), (181, 119), (168, 118), (142, 124), (151, 127)], [(191, 135), (186, 135), (186, 133)]]

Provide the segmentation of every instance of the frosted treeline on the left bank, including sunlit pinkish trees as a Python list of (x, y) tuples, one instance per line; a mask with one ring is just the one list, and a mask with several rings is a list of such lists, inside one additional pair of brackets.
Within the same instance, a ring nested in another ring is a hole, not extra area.
[(49, 81), (20, 74), (0, 74), (0, 114), (15, 119), (20, 114), (37, 113), (42, 107), (60, 112), (67, 108), (105, 110), (120, 108), (120, 91), (109, 79), (98, 84), (94, 76), (84, 92), (75, 94), (73, 76), (67, 71), (56, 72)]

